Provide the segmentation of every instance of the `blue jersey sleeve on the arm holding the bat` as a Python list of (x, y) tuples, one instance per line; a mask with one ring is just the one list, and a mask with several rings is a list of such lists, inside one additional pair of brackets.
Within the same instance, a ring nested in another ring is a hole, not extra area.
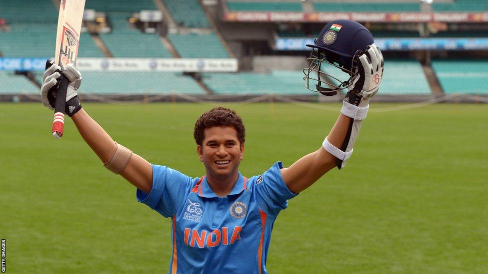
[(145, 194), (137, 189), (137, 201), (162, 216), (172, 217), (189, 191), (191, 178), (166, 166), (152, 165), (152, 189)]

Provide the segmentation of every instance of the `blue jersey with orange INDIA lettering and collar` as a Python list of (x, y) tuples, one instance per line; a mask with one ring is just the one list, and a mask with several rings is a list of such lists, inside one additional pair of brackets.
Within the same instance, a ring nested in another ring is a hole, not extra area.
[(281, 168), (277, 162), (249, 179), (239, 173), (230, 194), (218, 197), (204, 176), (152, 165), (152, 190), (137, 190), (137, 200), (172, 220), (168, 273), (267, 273), (273, 223), (296, 196)]

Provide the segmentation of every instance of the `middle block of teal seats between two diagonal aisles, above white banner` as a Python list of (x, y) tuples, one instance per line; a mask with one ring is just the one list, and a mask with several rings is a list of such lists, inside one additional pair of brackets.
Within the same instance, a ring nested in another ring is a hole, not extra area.
[(129, 27), (130, 13), (108, 12), (107, 16), (112, 32), (101, 33), (100, 37), (114, 57), (172, 57), (158, 35)]

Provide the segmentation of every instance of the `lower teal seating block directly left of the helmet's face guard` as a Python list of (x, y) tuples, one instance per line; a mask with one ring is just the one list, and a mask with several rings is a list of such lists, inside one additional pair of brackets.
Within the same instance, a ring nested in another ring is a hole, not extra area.
[(215, 94), (311, 94), (303, 85), (301, 71), (271, 73), (204, 73), (203, 83)]

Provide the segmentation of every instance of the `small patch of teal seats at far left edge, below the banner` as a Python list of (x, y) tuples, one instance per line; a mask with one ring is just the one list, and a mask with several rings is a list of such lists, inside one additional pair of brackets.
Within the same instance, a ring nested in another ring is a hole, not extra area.
[(13, 71), (0, 70), (0, 94), (39, 93), (39, 88), (24, 75)]

